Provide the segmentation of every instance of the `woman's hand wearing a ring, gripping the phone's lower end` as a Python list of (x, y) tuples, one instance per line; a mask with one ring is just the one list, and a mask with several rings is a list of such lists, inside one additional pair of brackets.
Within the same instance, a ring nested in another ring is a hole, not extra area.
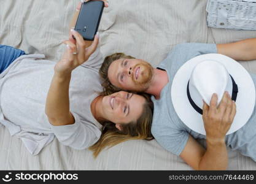
[(95, 39), (90, 47), (87, 47), (85, 40), (77, 31), (71, 29), (71, 35), (76, 39), (64, 40), (63, 44), (66, 44), (67, 48), (54, 68), (58, 74), (71, 74), (73, 69), (88, 60), (90, 55), (95, 52), (99, 43), (98, 34), (95, 35)]

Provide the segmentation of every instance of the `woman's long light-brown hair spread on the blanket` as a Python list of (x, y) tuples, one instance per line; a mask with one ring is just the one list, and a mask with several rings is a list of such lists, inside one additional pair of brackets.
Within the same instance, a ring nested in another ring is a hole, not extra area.
[(141, 116), (135, 122), (122, 124), (122, 130), (115, 127), (115, 123), (106, 121), (103, 123), (101, 130), (102, 134), (98, 142), (92, 145), (89, 149), (93, 151), (95, 158), (106, 147), (113, 147), (126, 140), (154, 139), (151, 132), (153, 120), (153, 102), (149, 94), (141, 94), (145, 98)]

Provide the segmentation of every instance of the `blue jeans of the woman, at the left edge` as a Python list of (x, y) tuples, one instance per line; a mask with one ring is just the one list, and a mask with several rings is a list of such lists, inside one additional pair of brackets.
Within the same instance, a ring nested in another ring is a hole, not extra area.
[(23, 50), (0, 44), (0, 74), (21, 55), (25, 55)]

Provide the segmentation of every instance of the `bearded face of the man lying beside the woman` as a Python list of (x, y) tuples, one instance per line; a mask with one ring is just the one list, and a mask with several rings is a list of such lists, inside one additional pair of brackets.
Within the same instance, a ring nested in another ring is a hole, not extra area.
[(107, 77), (122, 90), (142, 92), (149, 88), (153, 67), (142, 59), (117, 59), (111, 63)]

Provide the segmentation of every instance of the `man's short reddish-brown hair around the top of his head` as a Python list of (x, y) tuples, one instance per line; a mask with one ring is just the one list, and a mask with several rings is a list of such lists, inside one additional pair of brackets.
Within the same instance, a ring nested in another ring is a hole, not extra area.
[(122, 90), (112, 85), (112, 83), (109, 81), (109, 77), (107, 77), (107, 71), (109, 70), (111, 63), (121, 58), (135, 59), (133, 56), (125, 55), (125, 53), (114, 53), (104, 59), (104, 62), (99, 69), (99, 75), (101, 76), (101, 79), (103, 79), (103, 83), (101, 84), (103, 86), (103, 92), (101, 94), (109, 95)]

